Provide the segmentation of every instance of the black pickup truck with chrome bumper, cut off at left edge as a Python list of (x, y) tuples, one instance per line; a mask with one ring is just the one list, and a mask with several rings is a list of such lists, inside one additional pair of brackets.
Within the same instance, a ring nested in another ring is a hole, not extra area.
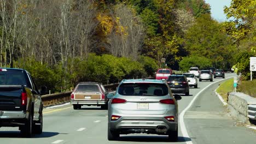
[(32, 76), (24, 69), (0, 68), (0, 127), (19, 127), (31, 137), (43, 130), (43, 103)]

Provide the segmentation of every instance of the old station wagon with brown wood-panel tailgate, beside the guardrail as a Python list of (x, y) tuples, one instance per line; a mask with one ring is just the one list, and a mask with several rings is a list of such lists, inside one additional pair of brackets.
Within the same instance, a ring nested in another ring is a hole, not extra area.
[(101, 83), (97, 82), (79, 82), (71, 93), (70, 103), (74, 110), (81, 109), (83, 105), (101, 106), (101, 109), (107, 109), (108, 92)]

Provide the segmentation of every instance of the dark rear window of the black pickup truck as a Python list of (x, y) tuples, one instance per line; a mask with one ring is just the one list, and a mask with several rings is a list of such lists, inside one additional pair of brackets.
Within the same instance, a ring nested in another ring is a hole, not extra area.
[(24, 85), (27, 86), (24, 73), (21, 71), (0, 71), (0, 85)]

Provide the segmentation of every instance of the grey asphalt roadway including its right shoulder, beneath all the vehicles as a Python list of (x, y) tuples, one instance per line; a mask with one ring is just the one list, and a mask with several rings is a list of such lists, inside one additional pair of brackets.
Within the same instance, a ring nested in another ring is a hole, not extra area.
[[(226, 77), (231, 76), (235, 74), (226, 74)], [(228, 115), (226, 108), (215, 94), (214, 90), (223, 82), (220, 80), (223, 79), (199, 82), (199, 88), (190, 88), (189, 96), (182, 95), (178, 105), (179, 113), (184, 114), (179, 120), (184, 120), (184, 125), (179, 123), (178, 142), (173, 143), (256, 143), (256, 132), (235, 124), (236, 121)], [(208, 88), (205, 88), (207, 86)], [(8, 144), (168, 142), (167, 136), (148, 134), (121, 135), (119, 141), (108, 141), (107, 110), (100, 110), (97, 106), (83, 106), (82, 110), (73, 110), (72, 105), (69, 104), (52, 107), (44, 109), (43, 117), (42, 135), (34, 135), (30, 139), (22, 138), (18, 128), (4, 127), (0, 128), (0, 142)]]

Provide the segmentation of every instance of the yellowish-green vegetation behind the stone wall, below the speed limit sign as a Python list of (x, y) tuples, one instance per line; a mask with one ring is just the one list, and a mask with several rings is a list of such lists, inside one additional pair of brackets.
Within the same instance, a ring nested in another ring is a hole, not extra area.
[(256, 80), (242, 80), (241, 84), (237, 87), (237, 91), (256, 98)]

